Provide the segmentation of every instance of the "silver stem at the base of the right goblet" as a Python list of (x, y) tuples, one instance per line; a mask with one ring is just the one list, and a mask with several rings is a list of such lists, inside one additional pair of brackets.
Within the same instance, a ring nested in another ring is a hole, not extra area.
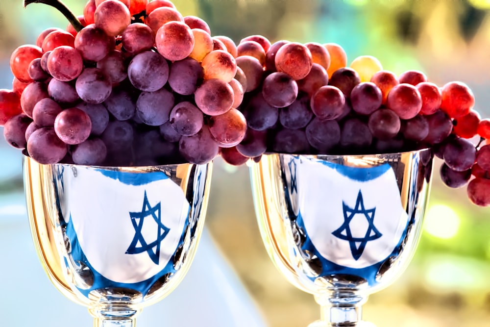
[(368, 297), (351, 290), (335, 290), (315, 296), (321, 318), (308, 327), (364, 326), (362, 305)]

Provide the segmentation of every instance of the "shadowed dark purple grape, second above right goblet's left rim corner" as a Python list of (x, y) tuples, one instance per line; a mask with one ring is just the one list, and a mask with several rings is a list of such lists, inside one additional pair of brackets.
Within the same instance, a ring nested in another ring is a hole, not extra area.
[(279, 118), (279, 109), (264, 100), (262, 92), (257, 93), (243, 109), (248, 127), (266, 130), (274, 126)]

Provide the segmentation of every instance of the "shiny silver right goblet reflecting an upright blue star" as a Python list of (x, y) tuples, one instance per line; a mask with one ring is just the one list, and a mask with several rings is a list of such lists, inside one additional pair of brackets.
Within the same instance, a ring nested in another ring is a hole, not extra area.
[(310, 327), (364, 326), (362, 305), (406, 268), (430, 191), (430, 149), (375, 155), (264, 154), (255, 211), (279, 271), (315, 296)]

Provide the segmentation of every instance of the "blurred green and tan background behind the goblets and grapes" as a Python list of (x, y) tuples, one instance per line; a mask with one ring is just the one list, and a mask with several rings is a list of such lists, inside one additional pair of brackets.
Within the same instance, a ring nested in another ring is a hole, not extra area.
[[(84, 0), (65, 0), (81, 14)], [(175, 0), (184, 15), (210, 25), (213, 36), (238, 43), (262, 34), (271, 42), (335, 42), (348, 63), (373, 55), (399, 75), (421, 70), (443, 85), (460, 80), (475, 109), (490, 117), (490, 0)], [(8, 60), (43, 29), (66, 27), (53, 8), (21, 0), (0, 2), (0, 88), (11, 88)], [(0, 153), (0, 165), (3, 165)], [(216, 243), (260, 306), (271, 327), (307, 326), (319, 317), (312, 296), (275, 270), (260, 239), (246, 166), (215, 160), (207, 215)], [(364, 318), (377, 327), (490, 326), (490, 209), (472, 205), (466, 188), (441, 184), (436, 161), (426, 224), (414, 261), (389, 288), (374, 294)], [(19, 162), (20, 165), (20, 162)], [(0, 194), (22, 191), (21, 176)]]

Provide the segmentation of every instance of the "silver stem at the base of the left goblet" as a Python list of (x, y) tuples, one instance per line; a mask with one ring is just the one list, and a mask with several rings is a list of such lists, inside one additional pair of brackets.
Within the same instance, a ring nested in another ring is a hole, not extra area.
[(94, 327), (136, 327), (138, 310), (126, 305), (111, 305), (90, 308), (94, 317)]

